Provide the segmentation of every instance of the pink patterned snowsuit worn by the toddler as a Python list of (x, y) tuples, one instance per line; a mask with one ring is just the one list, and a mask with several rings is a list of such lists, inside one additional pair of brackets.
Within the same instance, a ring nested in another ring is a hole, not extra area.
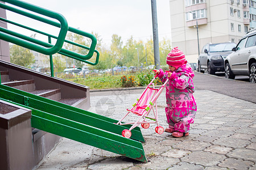
[[(172, 73), (166, 84), (166, 117), (170, 128), (181, 133), (187, 133), (190, 124), (193, 124), (197, 105), (193, 92), (193, 70), (191, 66), (185, 62), (176, 71)], [(158, 75), (162, 82), (167, 80), (167, 73), (160, 69)]]

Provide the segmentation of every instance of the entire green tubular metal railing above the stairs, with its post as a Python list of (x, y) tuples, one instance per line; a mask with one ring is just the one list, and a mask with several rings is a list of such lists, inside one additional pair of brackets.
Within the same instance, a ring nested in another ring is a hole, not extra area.
[[(12, 42), (14, 44), (23, 46), (24, 48), (28, 48), (28, 49), (34, 50), (36, 52), (39, 52), (39, 53), (49, 55), (50, 56), (51, 75), (52, 76), (54, 75), (53, 74), (52, 54), (55, 54), (55, 53), (62, 54), (63, 56), (67, 56), (69, 58), (77, 59), (79, 61), (88, 63), (90, 65), (97, 65), (98, 59), (100, 57), (100, 53), (98, 53), (98, 51), (95, 50), (96, 44), (97, 44), (97, 39), (96, 39), (95, 36), (93, 36), (92, 34), (90, 34), (88, 32), (84, 32), (84, 31), (81, 31), (81, 30), (76, 29), (76, 28), (68, 27), (67, 20), (65, 20), (64, 16), (62, 16), (61, 14), (58, 14), (56, 12), (49, 11), (49, 10), (46, 10), (42, 7), (38, 7), (38, 6), (35, 6), (35, 5), (31, 5), (30, 3), (17, 1), (17, 0), (9, 0), (9, 1), (4, 0), (4, 2), (6, 2), (7, 4), (0, 3), (1, 8), (4, 8), (4, 9), (9, 10), (9, 11), (13, 11), (17, 14), (27, 16), (28, 18), (32, 18), (32, 19), (38, 20), (40, 22), (43, 22), (43, 23), (46, 23), (46, 24), (49, 24), (49, 25), (53, 25), (55, 27), (60, 28), (59, 36), (53, 36), (53, 35), (50, 35), (48, 33), (39, 31), (37, 29), (27, 27), (26, 25), (15, 23), (15, 22), (12, 22), (11, 20), (7, 20), (5, 18), (0, 18), (0, 20), (2, 20), (4, 22), (16, 25), (16, 26), (21, 27), (21, 28), (28, 29), (30, 31), (34, 31), (36, 33), (40, 33), (40, 34), (45, 35), (45, 36), (48, 36), (48, 42), (44, 42), (44, 41), (41, 41), (41, 40), (34, 39), (32, 37), (28, 37), (26, 35), (22, 35), (20, 33), (11, 31), (9, 29), (0, 27), (0, 39)], [(46, 19), (46, 18), (44, 18), (42, 16), (39, 16), (39, 15), (32, 14), (32, 13), (24, 11), (22, 9), (15, 8), (13, 6), (10, 6), (9, 4), (17, 6), (17, 7), (21, 7), (21, 8), (26, 9), (26, 10), (36, 12), (40, 15), (44, 15), (44, 16), (47, 16), (47, 17), (52, 18), (52, 19), (56, 19), (60, 23), (57, 23), (57, 22), (54, 22), (52, 20)], [(84, 46), (84, 45), (81, 45), (81, 44), (77, 44), (76, 42), (65, 40), (65, 36), (67, 35), (67, 31), (72, 32), (72, 33), (76, 33), (76, 34), (84, 36), (84, 37), (88, 37), (90, 40), (92, 40), (92, 43), (90, 44), (90, 47)], [(52, 38), (56, 39), (56, 44), (55, 45), (51, 44), (51, 39)], [(86, 50), (88, 50), (88, 53), (87, 54), (80, 54), (80, 53), (72, 52), (71, 50), (68, 50), (68, 49), (64, 49), (63, 48), (64, 42), (67, 42), (68, 44), (78, 46), (79, 48), (86, 49)], [(92, 58), (94, 53), (96, 53), (96, 61), (95, 62), (87, 61), (88, 59)]]

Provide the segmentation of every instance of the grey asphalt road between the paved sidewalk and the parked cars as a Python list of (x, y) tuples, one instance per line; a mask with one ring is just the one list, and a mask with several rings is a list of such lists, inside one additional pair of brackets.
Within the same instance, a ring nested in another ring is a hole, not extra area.
[(209, 75), (195, 71), (193, 81), (196, 90), (210, 90), (256, 103), (256, 83), (250, 83), (246, 76), (237, 76), (236, 80), (232, 80), (226, 79), (224, 75)]

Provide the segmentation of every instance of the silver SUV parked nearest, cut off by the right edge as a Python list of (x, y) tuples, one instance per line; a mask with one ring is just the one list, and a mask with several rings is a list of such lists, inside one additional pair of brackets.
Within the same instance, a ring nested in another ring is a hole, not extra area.
[(250, 82), (256, 83), (256, 29), (251, 29), (233, 48), (233, 53), (225, 59), (225, 77), (234, 79), (236, 75), (248, 75)]

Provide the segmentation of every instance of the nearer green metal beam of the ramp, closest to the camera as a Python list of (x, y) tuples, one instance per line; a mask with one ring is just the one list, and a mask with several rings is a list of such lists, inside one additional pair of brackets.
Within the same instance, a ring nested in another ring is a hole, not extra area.
[[(1, 100), (9, 101), (6, 99)], [(31, 109), (31, 125), (33, 128), (41, 129), (61, 137), (69, 138), (86, 145), (101, 148), (115, 154), (123, 155), (131, 159), (147, 162), (141, 142), (123, 138), (121, 135), (109, 133), (108, 131), (81, 124), (67, 118), (55, 116), (37, 109), (9, 101)]]

